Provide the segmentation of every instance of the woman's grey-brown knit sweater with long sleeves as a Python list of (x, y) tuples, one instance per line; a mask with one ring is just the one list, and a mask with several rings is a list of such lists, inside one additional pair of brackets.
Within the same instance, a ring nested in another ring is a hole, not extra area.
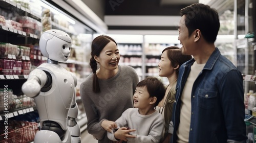
[(113, 78), (99, 79), (99, 93), (92, 91), (93, 74), (80, 85), (80, 96), (88, 119), (88, 132), (98, 142), (110, 142), (106, 131), (101, 127), (102, 121), (116, 121), (126, 109), (133, 107), (133, 93), (139, 82), (138, 75), (130, 66), (118, 65), (118, 69)]

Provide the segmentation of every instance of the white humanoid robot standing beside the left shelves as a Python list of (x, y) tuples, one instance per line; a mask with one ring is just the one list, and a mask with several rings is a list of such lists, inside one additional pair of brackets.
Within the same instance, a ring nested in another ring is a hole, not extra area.
[(39, 46), (47, 63), (29, 74), (22, 91), (33, 97), (40, 117), (41, 129), (34, 142), (81, 142), (80, 127), (76, 122), (78, 106), (75, 100), (76, 77), (58, 62), (70, 56), (70, 36), (60, 30), (42, 33)]

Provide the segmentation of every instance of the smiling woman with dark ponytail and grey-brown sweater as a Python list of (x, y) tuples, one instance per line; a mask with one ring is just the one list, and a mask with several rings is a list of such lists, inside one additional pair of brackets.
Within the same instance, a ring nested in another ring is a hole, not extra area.
[(113, 121), (127, 108), (133, 108), (138, 75), (134, 68), (118, 65), (119, 59), (113, 38), (100, 35), (93, 39), (90, 59), (93, 73), (81, 83), (80, 95), (86, 110), (88, 132), (98, 142), (110, 142), (106, 132), (117, 128)]

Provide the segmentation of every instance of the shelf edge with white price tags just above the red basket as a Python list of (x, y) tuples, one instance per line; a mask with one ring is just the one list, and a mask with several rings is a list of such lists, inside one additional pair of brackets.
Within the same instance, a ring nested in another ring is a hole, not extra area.
[[(0, 114), (0, 121), (5, 120), (5, 118), (11, 118), (14, 116), (18, 116), (18, 115), (22, 115), (22, 114), (26, 114), (29, 112), (33, 112), (34, 110), (36, 110), (36, 107), (27, 107), (27, 108), (22, 108), (22, 109), (17, 109), (15, 111), (4, 111), (3, 113)], [(6, 116), (8, 115), (8, 116)]]

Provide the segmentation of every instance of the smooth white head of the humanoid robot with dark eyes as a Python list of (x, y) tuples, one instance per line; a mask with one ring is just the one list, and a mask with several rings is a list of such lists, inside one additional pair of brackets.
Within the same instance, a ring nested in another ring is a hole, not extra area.
[(42, 55), (54, 61), (67, 61), (70, 56), (71, 37), (60, 30), (51, 29), (42, 33), (39, 47)]

